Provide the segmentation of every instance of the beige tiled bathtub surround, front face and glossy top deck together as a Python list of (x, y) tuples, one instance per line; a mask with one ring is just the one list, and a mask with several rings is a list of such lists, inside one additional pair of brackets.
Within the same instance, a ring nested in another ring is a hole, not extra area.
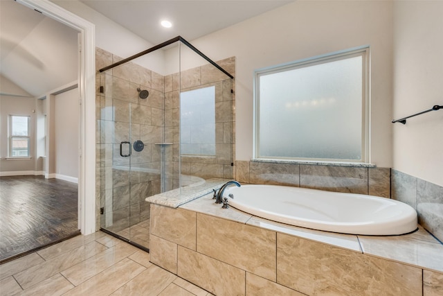
[(212, 194), (152, 204), (151, 261), (215, 295), (442, 295), (443, 245), (426, 230), (354, 236), (293, 227)]

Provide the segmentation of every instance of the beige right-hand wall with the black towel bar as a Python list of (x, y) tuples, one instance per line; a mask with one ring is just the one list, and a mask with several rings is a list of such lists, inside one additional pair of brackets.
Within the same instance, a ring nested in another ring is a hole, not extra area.
[[(394, 14), (395, 119), (443, 105), (443, 2), (396, 1)], [(443, 111), (393, 126), (398, 171), (443, 186)]]

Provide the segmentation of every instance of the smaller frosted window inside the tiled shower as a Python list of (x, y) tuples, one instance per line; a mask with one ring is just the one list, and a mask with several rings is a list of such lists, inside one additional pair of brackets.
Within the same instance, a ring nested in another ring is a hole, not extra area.
[(215, 87), (180, 95), (182, 155), (215, 155)]

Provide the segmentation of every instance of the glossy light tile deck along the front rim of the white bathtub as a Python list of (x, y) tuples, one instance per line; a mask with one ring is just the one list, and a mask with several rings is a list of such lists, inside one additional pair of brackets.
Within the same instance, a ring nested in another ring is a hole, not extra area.
[(201, 198), (195, 198), (190, 202), (181, 204), (179, 207), (226, 220), (233, 220), (237, 223), (262, 227), (282, 234), (341, 247), (345, 250), (376, 256), (381, 259), (412, 265), (424, 270), (443, 273), (443, 245), (420, 225), (417, 232), (402, 236), (338, 234), (266, 220), (239, 211), (233, 207), (221, 209), (219, 204), (214, 204), (212, 198), (212, 193), (207, 194)]

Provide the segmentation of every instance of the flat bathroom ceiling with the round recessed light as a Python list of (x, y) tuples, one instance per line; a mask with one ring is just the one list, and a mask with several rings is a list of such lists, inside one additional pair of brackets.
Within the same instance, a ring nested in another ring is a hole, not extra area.
[[(188, 41), (255, 17), (294, 0), (81, 0), (156, 45), (181, 35)], [(168, 19), (172, 28), (163, 28)]]

